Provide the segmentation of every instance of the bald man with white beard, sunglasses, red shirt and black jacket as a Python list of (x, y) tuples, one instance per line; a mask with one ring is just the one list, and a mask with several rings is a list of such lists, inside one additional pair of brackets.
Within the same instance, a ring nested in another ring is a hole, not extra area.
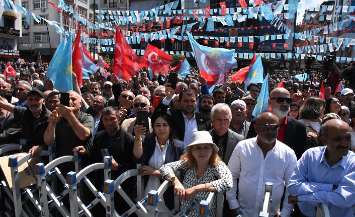
[[(297, 159), (308, 149), (306, 126), (299, 120), (293, 119), (287, 114), (290, 111), (290, 92), (285, 88), (276, 88), (270, 93), (269, 105), (273, 109), (273, 113), (279, 118), (279, 134), (278, 140), (287, 144), (295, 151)], [(247, 138), (256, 136), (254, 130), (255, 118), (251, 121)]]

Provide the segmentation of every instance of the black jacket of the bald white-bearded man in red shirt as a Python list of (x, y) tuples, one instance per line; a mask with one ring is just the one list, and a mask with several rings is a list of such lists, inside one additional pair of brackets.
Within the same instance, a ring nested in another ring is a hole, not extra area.
[[(256, 118), (251, 120), (247, 138), (253, 138), (257, 134), (254, 130)], [(287, 124), (285, 127), (284, 141), (293, 151), (295, 151), (297, 159), (308, 149), (306, 126), (299, 120), (287, 116)]]

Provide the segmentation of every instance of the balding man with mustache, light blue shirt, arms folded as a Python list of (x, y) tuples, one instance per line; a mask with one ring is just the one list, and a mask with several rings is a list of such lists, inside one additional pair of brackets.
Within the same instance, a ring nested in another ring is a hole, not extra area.
[(355, 154), (349, 151), (349, 125), (332, 119), (322, 125), (324, 146), (307, 150), (298, 161), (287, 191), (289, 203), (298, 203), (306, 216), (315, 216), (319, 203), (330, 216), (353, 216), (355, 203)]

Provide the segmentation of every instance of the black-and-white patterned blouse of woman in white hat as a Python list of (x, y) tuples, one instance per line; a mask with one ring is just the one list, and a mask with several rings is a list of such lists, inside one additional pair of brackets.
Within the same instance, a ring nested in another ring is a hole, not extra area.
[[(188, 169), (188, 162), (186, 161), (175, 161), (163, 165), (160, 169), (162, 177), (166, 176), (169, 173), (174, 173), (178, 170), (182, 170), (184, 174), (183, 186), (185, 189), (194, 187), (199, 184), (211, 183), (213, 187), (216, 188), (217, 192), (226, 192), (232, 185), (232, 174), (230, 173), (228, 167), (224, 162), (217, 164), (215, 168), (210, 166), (207, 167), (207, 170), (202, 174), (202, 176), (197, 179), (196, 169)], [(206, 200), (209, 195), (209, 192), (198, 192), (193, 196), (197, 202), (201, 200)], [(181, 201), (180, 210), (184, 210), (190, 206), (190, 201)], [(217, 199), (216, 196), (213, 199), (212, 205), (210, 207), (209, 216), (216, 216), (217, 210)], [(198, 211), (194, 209), (189, 216), (198, 216)]]

